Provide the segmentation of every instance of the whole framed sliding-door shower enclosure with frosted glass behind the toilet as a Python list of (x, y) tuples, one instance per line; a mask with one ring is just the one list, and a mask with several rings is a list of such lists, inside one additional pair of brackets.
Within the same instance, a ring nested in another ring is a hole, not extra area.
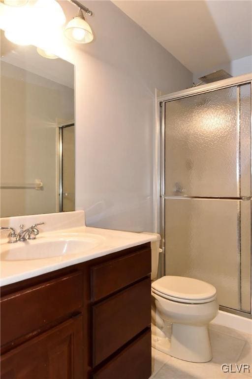
[(251, 317), (252, 76), (158, 97), (163, 274), (217, 288)]

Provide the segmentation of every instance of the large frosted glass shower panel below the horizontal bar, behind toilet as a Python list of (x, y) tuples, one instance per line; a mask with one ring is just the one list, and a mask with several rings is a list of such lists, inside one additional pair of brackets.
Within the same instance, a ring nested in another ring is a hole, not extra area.
[(213, 284), (219, 304), (234, 309), (241, 309), (240, 203), (165, 200), (165, 274)]

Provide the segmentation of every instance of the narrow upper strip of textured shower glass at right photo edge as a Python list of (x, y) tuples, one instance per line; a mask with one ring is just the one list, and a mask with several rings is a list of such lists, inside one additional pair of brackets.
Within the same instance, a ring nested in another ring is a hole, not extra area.
[(251, 85), (240, 86), (241, 196), (251, 195)]

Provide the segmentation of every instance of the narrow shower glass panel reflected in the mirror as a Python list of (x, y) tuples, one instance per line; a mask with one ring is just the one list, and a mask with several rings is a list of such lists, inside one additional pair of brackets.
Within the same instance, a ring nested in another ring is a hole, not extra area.
[(63, 128), (63, 212), (75, 210), (74, 126)]

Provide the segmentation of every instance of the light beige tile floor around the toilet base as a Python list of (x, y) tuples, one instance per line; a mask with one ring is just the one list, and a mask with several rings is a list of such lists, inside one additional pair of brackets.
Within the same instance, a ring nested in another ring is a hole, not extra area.
[[(191, 363), (152, 349), (151, 379), (246, 379), (252, 378), (252, 335), (221, 325), (211, 324), (210, 339), (213, 359), (207, 363)], [(246, 363), (251, 373), (223, 373), (221, 365)]]

